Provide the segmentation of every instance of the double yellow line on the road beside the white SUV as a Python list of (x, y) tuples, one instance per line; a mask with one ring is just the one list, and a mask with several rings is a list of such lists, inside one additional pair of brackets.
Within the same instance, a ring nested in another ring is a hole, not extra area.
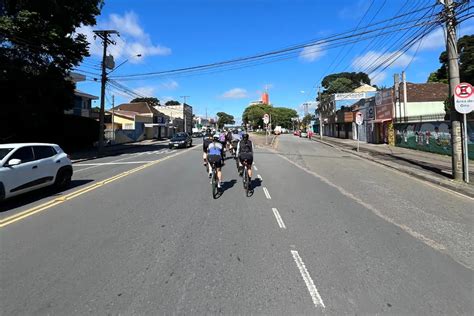
[(196, 147), (193, 147), (193, 148), (189, 148), (189, 149), (186, 149), (186, 150), (183, 150), (183, 151), (180, 151), (180, 152), (177, 152), (175, 154), (172, 154), (172, 155), (169, 155), (167, 157), (164, 157), (164, 158), (161, 158), (161, 159), (158, 159), (158, 160), (153, 160), (153, 161), (150, 161), (149, 163), (146, 163), (145, 165), (143, 166), (140, 166), (140, 167), (136, 167), (136, 168), (133, 168), (131, 170), (128, 170), (128, 171), (124, 171), (122, 173), (119, 173), (113, 177), (110, 177), (108, 179), (105, 179), (105, 180), (101, 180), (101, 181), (98, 181), (98, 182), (95, 182), (89, 186), (86, 186), (84, 188), (81, 188), (79, 190), (76, 190), (74, 192), (71, 192), (71, 193), (68, 193), (66, 195), (63, 195), (63, 196), (60, 196), (60, 197), (57, 197), (57, 198), (54, 198), (48, 202), (45, 202), (43, 204), (40, 204), (38, 206), (35, 206), (35, 207), (32, 207), (30, 209), (27, 209), (23, 212), (20, 212), (18, 214), (15, 214), (15, 215), (12, 215), (12, 216), (9, 216), (9, 217), (6, 217), (2, 220), (0, 220), (0, 228), (2, 227), (5, 227), (7, 225), (10, 225), (12, 223), (15, 223), (21, 219), (24, 219), (24, 218), (27, 218), (33, 214), (36, 214), (36, 213), (39, 213), (39, 212), (42, 212), (46, 209), (49, 209), (53, 206), (56, 206), (56, 205), (59, 205), (59, 204), (62, 204), (66, 201), (69, 201), (69, 200), (72, 200), (84, 193), (87, 193), (87, 192), (90, 192), (90, 191), (93, 191), (97, 188), (100, 188), (101, 186), (105, 185), (105, 184), (108, 184), (108, 183), (111, 183), (115, 180), (118, 180), (118, 179), (121, 179), (123, 177), (126, 177), (128, 175), (131, 175), (137, 171), (140, 171), (140, 170), (143, 170), (145, 168), (148, 168), (150, 166), (153, 166), (153, 165), (156, 165), (157, 163), (160, 163), (160, 162), (163, 162), (165, 160), (168, 160), (170, 158), (173, 158), (173, 157), (176, 157), (178, 155), (181, 155), (185, 152), (188, 152), (190, 150), (193, 150), (195, 149)]

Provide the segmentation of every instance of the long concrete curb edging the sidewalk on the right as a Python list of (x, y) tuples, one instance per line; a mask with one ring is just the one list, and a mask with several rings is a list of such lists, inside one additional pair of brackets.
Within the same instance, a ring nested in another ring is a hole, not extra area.
[[(415, 171), (411, 168), (407, 168), (407, 167), (404, 167), (404, 166), (399, 165), (399, 164), (392, 164), (392, 163), (389, 163), (389, 162), (386, 162), (386, 161), (382, 161), (380, 159), (376, 159), (376, 158), (371, 157), (367, 154), (361, 154), (361, 153), (354, 152), (353, 150), (345, 148), (346, 146), (336, 145), (336, 144), (326, 142), (326, 141), (323, 141), (323, 140), (320, 140), (320, 139), (312, 139), (312, 140), (316, 141), (316, 142), (319, 142), (321, 144), (324, 144), (326, 146), (337, 148), (341, 151), (352, 154), (354, 156), (370, 160), (372, 162), (378, 163), (378, 164), (383, 165), (385, 167), (395, 169), (397, 171), (402, 171), (403, 173), (409, 174), (409, 175), (411, 175), (411, 176), (413, 176), (413, 177), (415, 177), (419, 180), (441, 186), (443, 188), (449, 189), (450, 191), (454, 191), (456, 193), (462, 194), (462, 195), (470, 197), (470, 198), (474, 198), (473, 190), (468, 188), (467, 185), (451, 183), (452, 180), (443, 180), (443, 179), (438, 179), (438, 178), (435, 178), (435, 177), (431, 177), (429, 175), (423, 174), (421, 172), (417, 172), (417, 171)], [(370, 152), (370, 150), (369, 150), (369, 152)]]

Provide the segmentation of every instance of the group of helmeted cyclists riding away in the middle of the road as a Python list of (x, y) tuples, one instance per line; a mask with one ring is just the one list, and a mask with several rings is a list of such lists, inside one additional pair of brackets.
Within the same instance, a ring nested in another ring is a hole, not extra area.
[(222, 167), (226, 152), (231, 153), (237, 159), (237, 169), (239, 175), (242, 176), (244, 167), (247, 164), (247, 172), (249, 182), (252, 179), (252, 164), (253, 164), (253, 144), (249, 139), (249, 134), (241, 129), (224, 129), (221, 132), (213, 132), (208, 130), (204, 136), (202, 144), (204, 160), (204, 167), (212, 174), (212, 165), (216, 167), (218, 183), (217, 187), (222, 188)]

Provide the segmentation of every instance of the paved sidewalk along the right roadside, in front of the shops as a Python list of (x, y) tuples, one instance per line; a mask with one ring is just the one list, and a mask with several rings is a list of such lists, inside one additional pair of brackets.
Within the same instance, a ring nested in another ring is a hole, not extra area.
[(469, 160), (470, 183), (458, 183), (451, 179), (451, 157), (428, 153), (402, 147), (393, 147), (386, 144), (368, 144), (360, 142), (359, 152), (356, 151), (357, 141), (324, 136), (321, 141), (319, 135), (314, 135), (313, 141), (339, 148), (359, 157), (397, 169), (436, 185), (474, 197), (474, 161)]

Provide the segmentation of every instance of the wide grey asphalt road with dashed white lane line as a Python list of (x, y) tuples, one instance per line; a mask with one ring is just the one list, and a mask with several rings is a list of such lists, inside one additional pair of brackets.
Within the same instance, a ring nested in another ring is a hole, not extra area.
[(75, 188), (11, 202), (2, 314), (473, 313), (472, 200), (277, 142), (251, 197), (228, 160), (213, 199), (196, 146), (84, 162)]

